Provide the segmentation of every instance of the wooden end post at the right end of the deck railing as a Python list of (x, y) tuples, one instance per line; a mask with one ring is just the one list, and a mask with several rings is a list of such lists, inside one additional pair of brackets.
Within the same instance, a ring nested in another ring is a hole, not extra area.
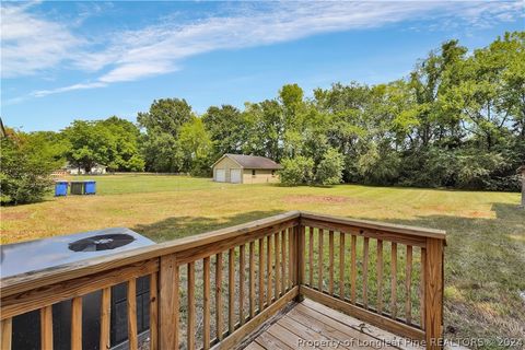
[(443, 245), (427, 238), (424, 277), (424, 330), (427, 349), (443, 349)]

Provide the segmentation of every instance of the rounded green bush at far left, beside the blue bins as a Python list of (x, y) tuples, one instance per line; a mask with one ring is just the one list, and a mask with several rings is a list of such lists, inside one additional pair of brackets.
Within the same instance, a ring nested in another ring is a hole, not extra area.
[(21, 205), (42, 200), (50, 189), (56, 168), (54, 150), (31, 136), (9, 130), (1, 140), (0, 203)]

